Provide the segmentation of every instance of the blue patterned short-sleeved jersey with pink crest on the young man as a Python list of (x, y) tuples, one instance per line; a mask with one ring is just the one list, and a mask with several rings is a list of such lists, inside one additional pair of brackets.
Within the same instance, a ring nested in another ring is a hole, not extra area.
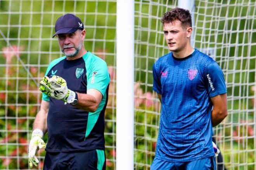
[(220, 66), (195, 49), (182, 59), (162, 56), (153, 76), (153, 90), (162, 95), (156, 158), (189, 162), (214, 156), (210, 98), (227, 93)]

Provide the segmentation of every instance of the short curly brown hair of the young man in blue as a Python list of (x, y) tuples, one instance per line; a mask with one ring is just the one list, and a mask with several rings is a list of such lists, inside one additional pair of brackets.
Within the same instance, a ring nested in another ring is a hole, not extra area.
[(174, 8), (163, 15), (161, 22), (164, 24), (173, 22), (175, 20), (182, 22), (182, 26), (184, 27), (192, 27), (192, 19), (189, 10), (183, 8)]

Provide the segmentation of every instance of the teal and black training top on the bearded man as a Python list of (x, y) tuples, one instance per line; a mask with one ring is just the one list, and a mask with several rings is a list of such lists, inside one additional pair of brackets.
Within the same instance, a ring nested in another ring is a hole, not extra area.
[(42, 99), (50, 101), (46, 151), (104, 150), (104, 112), (110, 82), (106, 62), (89, 51), (75, 60), (67, 60), (64, 56), (52, 61), (45, 75), (61, 76), (67, 82), (67, 88), (74, 92), (86, 93), (93, 88), (103, 96), (98, 109), (87, 112), (43, 94)]

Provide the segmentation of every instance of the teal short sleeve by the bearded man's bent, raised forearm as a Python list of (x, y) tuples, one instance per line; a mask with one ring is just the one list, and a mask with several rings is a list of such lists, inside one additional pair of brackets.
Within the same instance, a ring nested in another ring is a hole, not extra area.
[[(87, 67), (86, 67), (87, 68)], [(107, 86), (110, 82), (107, 64), (102, 59), (93, 61), (93, 64), (88, 67), (87, 74), (87, 90), (93, 88), (99, 90), (102, 95), (106, 93)]]

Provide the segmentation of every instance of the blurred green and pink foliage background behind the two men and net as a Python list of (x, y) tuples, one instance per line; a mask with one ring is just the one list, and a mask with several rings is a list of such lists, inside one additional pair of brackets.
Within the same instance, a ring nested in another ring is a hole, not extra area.
[[(149, 169), (154, 159), (161, 107), (152, 93), (152, 66), (169, 52), (160, 19), (177, 5), (177, 0), (135, 0), (135, 169)], [(225, 165), (254, 169), (255, 0), (196, 0), (194, 10), (193, 46), (218, 62), (227, 84), (229, 116), (214, 130)], [(107, 169), (115, 169), (115, 0), (0, 1), (0, 169), (28, 168), (28, 142), (41, 102), (38, 82), (48, 63), (62, 56), (52, 35), (55, 21), (66, 13), (80, 17), (85, 48), (109, 66), (106, 157)], [(45, 151), (39, 155), (42, 169)]]

